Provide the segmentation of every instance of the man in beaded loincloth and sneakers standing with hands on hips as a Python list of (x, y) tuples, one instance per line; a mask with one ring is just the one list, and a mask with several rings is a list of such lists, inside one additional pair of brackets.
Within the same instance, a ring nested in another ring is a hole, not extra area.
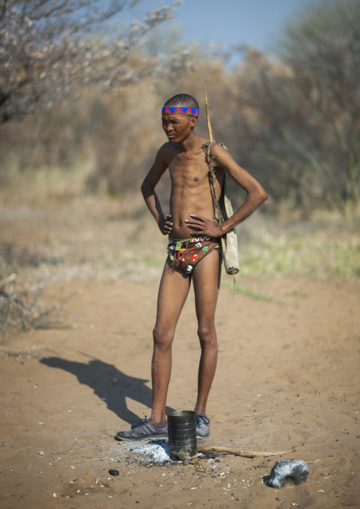
[[(118, 440), (167, 437), (165, 406), (171, 373), (171, 343), (176, 323), (188, 296), (191, 281), (195, 293), (201, 359), (198, 397), (195, 405), (196, 436), (208, 437), (210, 422), (206, 403), (215, 375), (218, 343), (215, 308), (220, 288), (219, 237), (242, 223), (263, 203), (267, 194), (248, 172), (220, 145), (210, 147), (215, 169), (215, 188), (221, 194), (225, 172), (247, 191), (244, 203), (222, 225), (214, 218), (215, 199), (208, 175), (205, 138), (195, 133), (198, 103), (188, 94), (177, 94), (162, 108), (162, 128), (169, 142), (157, 152), (155, 162), (142, 183), (147, 207), (163, 235), (169, 235), (168, 257), (159, 287), (157, 320), (153, 330), (152, 413), (129, 431), (119, 431)], [(170, 213), (166, 217), (155, 192), (169, 169)]]

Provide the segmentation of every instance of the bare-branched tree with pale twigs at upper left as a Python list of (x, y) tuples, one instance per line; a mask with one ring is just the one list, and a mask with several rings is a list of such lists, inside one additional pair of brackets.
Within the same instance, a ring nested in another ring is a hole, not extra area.
[(129, 65), (130, 55), (147, 33), (171, 19), (181, 0), (121, 28), (117, 16), (139, 2), (0, 0), (0, 123), (74, 85), (118, 87), (153, 72), (149, 59)]

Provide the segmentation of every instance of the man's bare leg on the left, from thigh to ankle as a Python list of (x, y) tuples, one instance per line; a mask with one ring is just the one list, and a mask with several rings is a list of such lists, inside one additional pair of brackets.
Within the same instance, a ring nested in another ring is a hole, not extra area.
[(176, 323), (189, 293), (191, 278), (165, 263), (159, 286), (157, 320), (154, 327), (152, 355), (152, 413), (151, 420), (161, 425), (166, 419), (167, 389), (171, 374), (171, 344)]

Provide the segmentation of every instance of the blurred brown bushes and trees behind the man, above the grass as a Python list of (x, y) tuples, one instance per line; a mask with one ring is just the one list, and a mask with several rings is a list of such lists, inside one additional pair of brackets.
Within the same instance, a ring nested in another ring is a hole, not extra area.
[[(238, 47), (235, 67), (229, 55), (186, 47), (159, 28), (173, 7), (109, 38), (99, 21), (123, 3), (106, 14), (101, 2), (75, 2), (85, 19), (69, 17), (67, 4), (0, 7), (3, 189), (52, 171), (74, 182), (69, 194), (137, 189), (164, 142), (162, 104), (186, 91), (203, 106), (206, 84), (215, 139), (264, 185), (267, 211), (283, 202), (304, 218), (314, 208), (358, 208), (359, 1), (309, 6), (284, 27), (276, 54)], [(198, 131), (206, 136), (202, 113)]]

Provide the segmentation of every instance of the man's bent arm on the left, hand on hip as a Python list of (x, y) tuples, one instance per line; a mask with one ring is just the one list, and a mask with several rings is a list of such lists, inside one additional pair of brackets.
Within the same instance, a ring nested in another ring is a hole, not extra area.
[(159, 198), (155, 192), (155, 187), (157, 186), (159, 180), (162, 175), (166, 172), (168, 164), (168, 150), (167, 147), (169, 145), (166, 143), (163, 145), (159, 152), (157, 152), (157, 156), (155, 157), (155, 162), (150, 168), (150, 172), (145, 177), (144, 181), (141, 185), (142, 196), (144, 196), (145, 202), (147, 204), (147, 208), (154, 216), (157, 225), (159, 226), (160, 231), (163, 235), (169, 235), (172, 228), (171, 216), (168, 214), (165, 218), (164, 213), (162, 211), (162, 206), (159, 202)]

